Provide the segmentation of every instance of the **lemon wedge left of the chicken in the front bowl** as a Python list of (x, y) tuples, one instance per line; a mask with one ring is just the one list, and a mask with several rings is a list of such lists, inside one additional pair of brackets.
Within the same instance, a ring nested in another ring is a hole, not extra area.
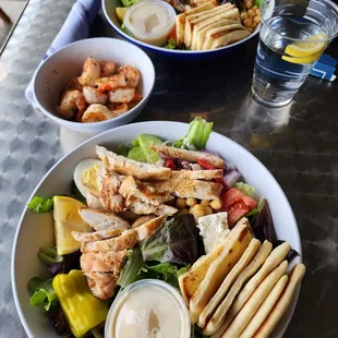
[(73, 239), (71, 232), (92, 232), (92, 227), (79, 215), (79, 208), (85, 207), (77, 200), (67, 196), (53, 197), (53, 218), (57, 251), (59, 255), (69, 254), (80, 249), (81, 243)]

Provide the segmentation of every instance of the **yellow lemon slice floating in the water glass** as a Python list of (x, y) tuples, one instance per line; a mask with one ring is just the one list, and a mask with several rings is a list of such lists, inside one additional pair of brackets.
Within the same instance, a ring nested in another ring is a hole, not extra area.
[(323, 40), (326, 38), (326, 34), (317, 33), (301, 43), (291, 44), (286, 48), (286, 53), (288, 56), (282, 56), (281, 59), (292, 63), (312, 63), (316, 61), (324, 51), (326, 41)]

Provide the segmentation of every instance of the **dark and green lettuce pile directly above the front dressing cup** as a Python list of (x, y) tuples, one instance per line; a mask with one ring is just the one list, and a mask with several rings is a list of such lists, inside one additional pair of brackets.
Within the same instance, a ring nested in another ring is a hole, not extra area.
[(155, 278), (178, 288), (179, 276), (201, 255), (194, 216), (176, 216), (130, 250), (118, 285), (125, 288), (136, 280)]

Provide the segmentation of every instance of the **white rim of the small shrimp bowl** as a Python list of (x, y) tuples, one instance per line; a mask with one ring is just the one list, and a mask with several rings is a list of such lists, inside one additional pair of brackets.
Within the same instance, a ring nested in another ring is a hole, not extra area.
[[(146, 59), (149, 60), (149, 64), (152, 64), (152, 70), (153, 70), (153, 73), (154, 73), (154, 81), (153, 81), (152, 87), (150, 87), (149, 90), (148, 90), (148, 94), (147, 94), (146, 96), (144, 96), (144, 97), (142, 98), (142, 100), (141, 100), (135, 107), (133, 107), (132, 109), (130, 109), (130, 110), (126, 111), (125, 113), (123, 113), (123, 114), (121, 114), (121, 116), (119, 116), (119, 117), (117, 117), (117, 118), (107, 120), (107, 121), (99, 121), (99, 122), (88, 122), (88, 123), (85, 123), (86, 126), (90, 128), (90, 126), (98, 125), (98, 124), (102, 126), (102, 125), (105, 125), (105, 124), (109, 124), (109, 122), (111, 122), (111, 121), (119, 121), (119, 120), (121, 120), (121, 119), (124, 119), (126, 116), (129, 116), (129, 114), (131, 114), (132, 112), (134, 112), (134, 111), (138, 108), (138, 106), (152, 95), (153, 89), (154, 89), (154, 86), (155, 86), (156, 71), (155, 71), (154, 63), (153, 63), (152, 59), (148, 57), (148, 55), (147, 55), (144, 50), (142, 50), (138, 46), (135, 46), (135, 45), (130, 44), (130, 43), (128, 43), (128, 41), (124, 41), (124, 40), (121, 40), (121, 39), (117, 39), (117, 38), (112, 38), (112, 37), (94, 37), (94, 38), (86, 38), (86, 39), (82, 39), (82, 40), (77, 40), (77, 41), (68, 44), (68, 45), (63, 46), (62, 48), (58, 49), (58, 50), (57, 50), (55, 53), (52, 53), (50, 57), (48, 57), (48, 58), (37, 68), (37, 70), (36, 70), (35, 73), (34, 73), (34, 76), (33, 76), (33, 95), (34, 95), (34, 100), (35, 100), (37, 107), (38, 107), (44, 113), (46, 113), (50, 119), (52, 119), (53, 121), (56, 121), (56, 122), (58, 122), (58, 123), (59, 123), (60, 120), (61, 120), (61, 121), (64, 121), (64, 123), (67, 123), (67, 124), (70, 123), (70, 128), (71, 128), (71, 125), (73, 125), (73, 126), (75, 126), (75, 125), (79, 126), (79, 125), (83, 124), (83, 122), (74, 122), (74, 121), (70, 121), (70, 120), (65, 120), (65, 119), (59, 118), (58, 116), (56, 116), (56, 114), (49, 112), (43, 105), (40, 105), (40, 102), (39, 102), (39, 100), (37, 99), (36, 94), (35, 94), (35, 93), (36, 93), (36, 88), (35, 88), (35, 86), (36, 86), (36, 77), (38, 76), (40, 70), (45, 67), (45, 64), (47, 64), (47, 62), (48, 62), (51, 58), (53, 58), (58, 52), (60, 52), (60, 51), (62, 51), (62, 50), (69, 48), (70, 46), (73, 46), (73, 45), (81, 45), (81, 44), (84, 44), (84, 41), (85, 41), (85, 43), (88, 43), (88, 41), (90, 41), (90, 40), (101, 40), (102, 43), (105, 43), (104, 40), (107, 40), (107, 41), (113, 40), (113, 41), (117, 43), (117, 44), (128, 45), (129, 48), (138, 49), (138, 51), (140, 51), (141, 53), (143, 53), (143, 55), (146, 57)], [(147, 75), (144, 75), (144, 74), (141, 74), (141, 75), (142, 75), (142, 76), (147, 76)]]

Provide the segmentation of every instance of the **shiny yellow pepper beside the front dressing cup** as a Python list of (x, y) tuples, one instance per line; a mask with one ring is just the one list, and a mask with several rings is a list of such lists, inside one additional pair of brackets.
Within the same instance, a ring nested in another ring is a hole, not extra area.
[(81, 270), (57, 275), (52, 287), (75, 337), (106, 321), (108, 305), (92, 293)]

